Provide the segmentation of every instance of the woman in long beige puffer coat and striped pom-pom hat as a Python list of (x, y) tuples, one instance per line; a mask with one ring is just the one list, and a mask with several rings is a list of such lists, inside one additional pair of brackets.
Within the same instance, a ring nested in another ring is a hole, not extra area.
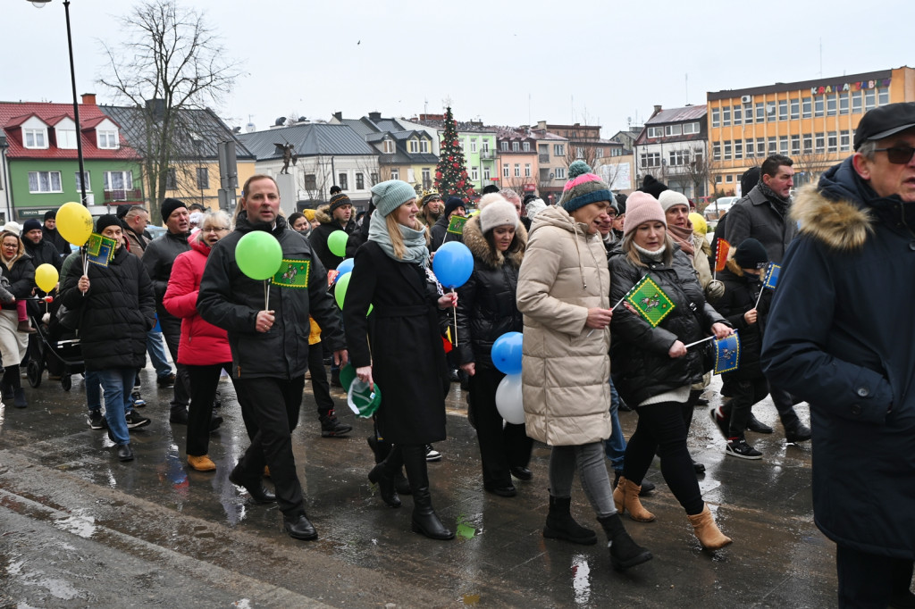
[(527, 433), (553, 447), (544, 537), (593, 544), (569, 507), (578, 470), (610, 541), (610, 561), (627, 569), (651, 560), (631, 540), (611, 495), (603, 441), (610, 435), (610, 277), (595, 220), (613, 195), (585, 163), (569, 167), (562, 207), (537, 214), (518, 277), (524, 315), (522, 397)]

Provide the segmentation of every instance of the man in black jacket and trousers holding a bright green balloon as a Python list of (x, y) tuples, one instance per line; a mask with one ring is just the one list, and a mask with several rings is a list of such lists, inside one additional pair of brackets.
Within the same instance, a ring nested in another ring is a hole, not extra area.
[[(291, 434), (308, 368), (308, 315), (321, 326), (322, 342), (328, 342), (342, 365), (347, 352), (339, 312), (328, 294), (324, 267), (307, 240), (279, 215), (274, 179), (252, 176), (243, 192), (235, 230), (213, 246), (197, 301), (200, 315), (229, 333), (242, 414), (257, 427), (229, 479), (259, 503), (276, 501), (290, 537), (315, 540), (318, 532), (305, 513)], [(270, 309), (264, 303), (264, 282), (248, 278), (235, 260), (239, 240), (254, 230), (273, 235), (283, 248), (282, 266), (270, 283)], [(270, 467), (275, 496), (261, 481), (264, 465)]]

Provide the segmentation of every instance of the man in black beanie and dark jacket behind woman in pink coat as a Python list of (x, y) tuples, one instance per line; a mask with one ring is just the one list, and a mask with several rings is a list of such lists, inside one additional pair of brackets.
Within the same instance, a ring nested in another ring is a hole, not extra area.
[[(188, 230), (190, 228), (190, 215), (188, 207), (177, 198), (167, 198), (162, 202), (162, 220), (166, 223), (168, 231), (161, 237), (149, 242), (143, 252), (143, 266), (149, 273), (153, 282), (153, 292), (156, 294), (156, 315), (159, 317), (159, 326), (162, 335), (166, 337), (168, 352), (171, 353), (175, 369), (178, 370), (175, 382), (175, 397), (170, 402), (168, 421), (188, 424), (188, 404), (190, 403), (190, 379), (188, 369), (178, 363), (178, 343), (181, 340), (181, 320), (166, 311), (162, 305), (162, 298), (166, 295), (168, 278), (171, 277), (171, 267), (178, 258), (178, 254), (190, 250), (188, 244)], [(169, 379), (169, 377), (165, 377)], [(163, 377), (159, 377), (159, 385), (165, 385)]]

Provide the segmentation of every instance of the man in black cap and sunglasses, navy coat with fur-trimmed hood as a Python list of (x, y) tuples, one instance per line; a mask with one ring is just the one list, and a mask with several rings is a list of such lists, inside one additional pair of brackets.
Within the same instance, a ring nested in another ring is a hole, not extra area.
[(838, 606), (915, 606), (915, 103), (867, 112), (791, 221), (762, 364), (810, 402)]

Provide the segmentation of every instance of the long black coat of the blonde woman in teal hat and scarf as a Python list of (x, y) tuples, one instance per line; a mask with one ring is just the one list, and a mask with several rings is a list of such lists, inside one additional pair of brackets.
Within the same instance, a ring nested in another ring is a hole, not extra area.
[[(445, 439), (449, 375), (438, 296), (419, 265), (394, 261), (374, 241), (356, 252), (343, 304), (347, 344), (354, 368), (371, 364), (372, 379), (382, 391), (376, 422), (388, 442)], [(370, 304), (374, 309), (366, 318)]]

